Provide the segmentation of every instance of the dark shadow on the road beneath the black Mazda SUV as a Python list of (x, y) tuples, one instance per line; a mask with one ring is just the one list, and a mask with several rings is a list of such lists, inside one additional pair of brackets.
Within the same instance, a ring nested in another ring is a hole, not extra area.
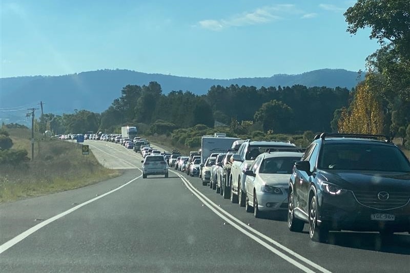
[(330, 232), (327, 243), (343, 247), (410, 255), (410, 235), (406, 234), (381, 236), (378, 233)]

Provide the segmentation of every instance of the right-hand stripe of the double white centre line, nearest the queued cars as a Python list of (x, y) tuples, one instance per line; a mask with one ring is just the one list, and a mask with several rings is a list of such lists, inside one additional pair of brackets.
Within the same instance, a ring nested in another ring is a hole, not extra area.
[[(203, 195), (201, 192), (199, 192), (199, 191), (192, 185), (192, 183), (191, 183), (190, 181), (188, 181), (188, 179), (186, 179), (185, 177), (181, 176), (180, 174), (178, 174), (178, 173), (176, 173), (176, 172), (174, 172), (174, 171), (171, 171), (171, 172), (173, 172), (174, 174), (178, 175), (178, 176), (181, 178), (181, 180), (182, 180), (186, 185), (187, 185), (187, 183), (188, 183), (187, 187), (188, 187), (188, 188), (191, 190), (191, 192), (193, 192), (196, 196), (197, 196), (197, 194), (198, 194), (198, 195), (200, 195), (203, 199), (206, 199), (207, 202), (209, 202), (209, 204), (213, 206), (213, 207), (211, 208), (212, 211), (214, 211), (214, 209), (218, 209), (221, 213), (223, 213), (224, 215), (230, 217), (232, 220), (234, 220), (235, 222), (237, 222), (237, 223), (238, 223), (239, 225), (241, 225), (243, 228), (246, 228), (246, 229), (250, 230), (250, 231), (253, 232), (254, 234), (256, 234), (256, 235), (262, 237), (263, 239), (265, 239), (265, 240), (269, 241), (270, 243), (274, 244), (275, 246), (281, 248), (282, 250), (286, 251), (287, 253), (289, 253), (290, 255), (294, 256), (295, 258), (297, 258), (297, 259), (303, 261), (303, 262), (306, 263), (306, 264), (309, 264), (310, 266), (316, 268), (317, 270), (319, 270), (319, 271), (321, 271), (321, 272), (323, 272), (323, 273), (331, 273), (331, 271), (329, 271), (329, 270), (323, 268), (322, 266), (320, 266), (320, 265), (318, 265), (318, 264), (312, 262), (312, 261), (309, 260), (309, 259), (304, 258), (303, 256), (301, 256), (301, 255), (295, 253), (295, 251), (289, 249), (288, 247), (285, 247), (284, 245), (282, 245), (282, 244), (278, 243), (277, 241), (273, 240), (272, 238), (270, 238), (270, 237), (268, 237), (268, 236), (266, 236), (266, 235), (264, 235), (264, 234), (258, 232), (258, 230), (256, 230), (256, 229), (254, 229), (254, 228), (252, 228), (252, 227), (250, 227), (250, 226), (244, 224), (242, 221), (240, 221), (239, 219), (235, 218), (233, 215), (229, 214), (228, 212), (224, 211), (224, 209), (220, 208), (217, 204), (215, 204), (213, 201), (211, 201), (208, 197), (206, 197), (206, 196)], [(198, 197), (198, 198), (199, 198), (199, 197)], [(202, 201), (202, 200), (201, 200), (201, 201)], [(204, 203), (206, 203), (206, 202), (204, 202)], [(207, 204), (207, 206), (208, 206), (208, 204)], [(209, 207), (209, 206), (208, 206), (208, 207)], [(289, 257), (289, 256), (286, 256), (286, 257)], [(283, 258), (283, 257), (282, 257), (282, 258)], [(292, 258), (290, 258), (290, 259), (292, 259)]]

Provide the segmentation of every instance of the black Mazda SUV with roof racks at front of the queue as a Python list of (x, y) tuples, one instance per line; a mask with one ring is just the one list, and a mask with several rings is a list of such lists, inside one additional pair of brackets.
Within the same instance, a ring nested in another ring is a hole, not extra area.
[(309, 223), (318, 242), (329, 230), (410, 233), (409, 201), (410, 162), (387, 137), (322, 133), (295, 163), (288, 227)]

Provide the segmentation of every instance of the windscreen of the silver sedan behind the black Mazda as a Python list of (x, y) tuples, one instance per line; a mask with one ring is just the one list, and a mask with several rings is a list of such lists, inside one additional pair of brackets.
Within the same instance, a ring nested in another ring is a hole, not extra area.
[[(293, 165), (300, 157), (268, 157), (259, 167), (260, 174), (292, 174)], [(256, 161), (255, 161), (256, 162)]]

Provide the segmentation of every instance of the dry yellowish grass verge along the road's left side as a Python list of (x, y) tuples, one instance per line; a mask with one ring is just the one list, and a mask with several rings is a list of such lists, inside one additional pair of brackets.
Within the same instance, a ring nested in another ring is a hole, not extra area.
[[(26, 149), (31, 157), (31, 132), (8, 130), (13, 149)], [(34, 160), (19, 165), (2, 164), (0, 202), (72, 190), (119, 175), (101, 166), (92, 153), (81, 155), (81, 145), (35, 136)]]

